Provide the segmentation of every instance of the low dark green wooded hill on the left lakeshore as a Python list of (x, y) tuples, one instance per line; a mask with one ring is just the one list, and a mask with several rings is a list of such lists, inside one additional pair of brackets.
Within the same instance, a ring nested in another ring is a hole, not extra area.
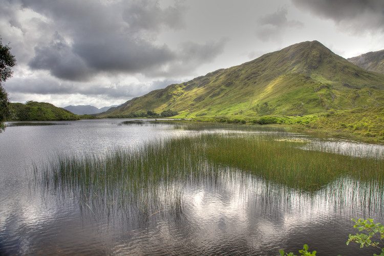
[(12, 103), (12, 108), (16, 112), (18, 121), (59, 121), (59, 120), (78, 120), (79, 116), (68, 110), (57, 108), (56, 106), (45, 103), (29, 101), (26, 104)]

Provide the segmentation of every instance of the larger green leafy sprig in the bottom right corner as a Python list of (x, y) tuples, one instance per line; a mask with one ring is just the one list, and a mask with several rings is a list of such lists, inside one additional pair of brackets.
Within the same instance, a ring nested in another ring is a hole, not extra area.
[[(382, 251), (379, 255), (384, 256), (384, 226), (379, 222), (374, 223), (373, 219), (352, 219), (352, 221), (355, 222), (354, 228), (357, 228), (359, 231), (364, 231), (365, 233), (356, 233), (356, 236), (349, 234), (347, 245), (352, 242), (359, 244), (360, 248), (369, 246), (376, 247)], [(373, 241), (373, 239), (376, 241)]]

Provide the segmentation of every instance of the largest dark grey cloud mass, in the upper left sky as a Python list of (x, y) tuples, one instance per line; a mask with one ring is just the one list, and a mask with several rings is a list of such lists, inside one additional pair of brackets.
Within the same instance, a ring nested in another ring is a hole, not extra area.
[[(178, 2), (168, 7), (149, 0), (22, 2), (23, 8), (47, 17), (46, 23), (55, 29), (47, 31), (52, 33), (49, 42), (40, 41), (34, 47), (28, 65), (64, 80), (89, 81), (103, 73), (183, 75), (214, 59), (223, 45), (222, 41), (185, 42), (171, 49), (159, 44), (159, 31), (184, 26), (184, 7)], [(188, 52), (191, 55), (186, 56)], [(181, 69), (180, 65), (187, 68)]]

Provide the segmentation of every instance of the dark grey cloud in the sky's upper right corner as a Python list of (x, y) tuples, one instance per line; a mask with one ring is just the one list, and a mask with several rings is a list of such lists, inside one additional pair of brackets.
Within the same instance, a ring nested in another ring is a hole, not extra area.
[(384, 31), (382, 0), (292, 0), (293, 4), (353, 32)]

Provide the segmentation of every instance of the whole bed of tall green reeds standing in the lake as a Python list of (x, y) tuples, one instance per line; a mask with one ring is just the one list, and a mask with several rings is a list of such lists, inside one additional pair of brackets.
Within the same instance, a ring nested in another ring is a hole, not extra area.
[(359, 191), (366, 200), (382, 200), (382, 158), (351, 157), (317, 148), (303, 150), (302, 141), (278, 138), (254, 133), (202, 133), (104, 156), (56, 156), (42, 167), (34, 167), (33, 180), (46, 191), (76, 198), (92, 212), (134, 207), (147, 216), (164, 209), (180, 211), (187, 184), (217, 181), (225, 173), (236, 172), (266, 180), (266, 193), (277, 185), (312, 194), (335, 181), (342, 186), (346, 179), (353, 179), (364, 187)]

